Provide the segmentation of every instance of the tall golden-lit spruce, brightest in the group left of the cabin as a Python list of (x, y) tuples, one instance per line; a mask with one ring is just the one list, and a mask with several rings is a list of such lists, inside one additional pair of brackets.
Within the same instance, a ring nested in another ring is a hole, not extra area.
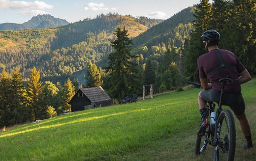
[(32, 110), (32, 116), (34, 120), (40, 119), (41, 105), (39, 104), (39, 94), (42, 89), (42, 82), (39, 81), (40, 74), (39, 71), (33, 67), (30, 75), (30, 80), (28, 81), (28, 98), (29, 106)]

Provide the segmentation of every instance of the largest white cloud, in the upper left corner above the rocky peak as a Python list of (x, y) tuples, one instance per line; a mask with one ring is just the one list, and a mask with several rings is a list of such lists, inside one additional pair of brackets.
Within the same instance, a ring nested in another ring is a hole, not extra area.
[(52, 9), (54, 6), (47, 4), (43, 1), (35, 0), (29, 1), (17, 1), (17, 0), (0, 0), (0, 9), (22, 10), (20, 12), (23, 16), (34, 16), (38, 14), (47, 14), (45, 9)]

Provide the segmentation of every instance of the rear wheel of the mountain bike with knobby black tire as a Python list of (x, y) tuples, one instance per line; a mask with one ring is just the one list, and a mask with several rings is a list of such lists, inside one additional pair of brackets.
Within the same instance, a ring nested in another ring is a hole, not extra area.
[[(218, 142), (214, 146), (215, 161), (223, 160), (220, 158), (225, 158), (225, 161), (234, 161), (236, 141), (235, 122), (229, 110), (226, 109), (220, 113), (216, 130)], [(227, 134), (225, 134), (226, 131)]]

